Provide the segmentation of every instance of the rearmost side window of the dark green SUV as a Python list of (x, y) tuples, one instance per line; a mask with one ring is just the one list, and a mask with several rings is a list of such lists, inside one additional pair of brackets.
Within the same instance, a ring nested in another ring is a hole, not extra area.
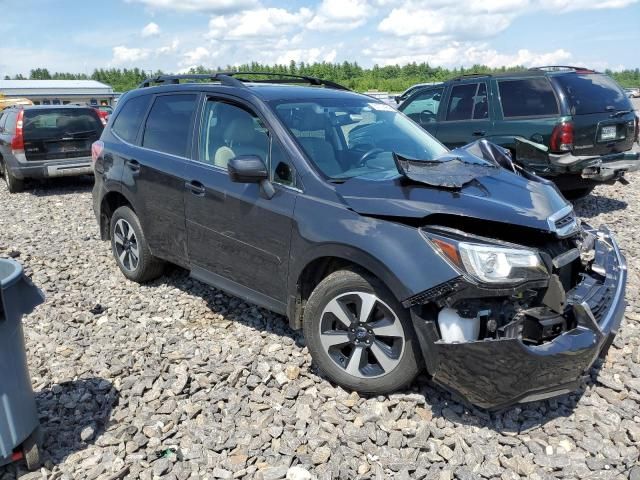
[(505, 118), (559, 114), (558, 101), (546, 77), (499, 80), (498, 90)]

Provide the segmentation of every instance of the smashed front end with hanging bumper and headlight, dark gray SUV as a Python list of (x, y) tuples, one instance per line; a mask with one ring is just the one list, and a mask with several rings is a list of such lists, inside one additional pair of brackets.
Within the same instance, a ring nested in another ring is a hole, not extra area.
[(627, 274), (605, 227), (574, 220), (565, 235), (532, 246), (446, 227), (421, 232), (460, 272), (405, 301), (435, 382), (501, 408), (575, 390), (606, 354)]

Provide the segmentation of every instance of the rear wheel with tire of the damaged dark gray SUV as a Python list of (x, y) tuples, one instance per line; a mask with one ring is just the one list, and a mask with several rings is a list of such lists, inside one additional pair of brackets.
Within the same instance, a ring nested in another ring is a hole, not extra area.
[(120, 207), (111, 216), (111, 251), (120, 271), (129, 280), (148, 282), (162, 275), (164, 262), (153, 255), (137, 215)]

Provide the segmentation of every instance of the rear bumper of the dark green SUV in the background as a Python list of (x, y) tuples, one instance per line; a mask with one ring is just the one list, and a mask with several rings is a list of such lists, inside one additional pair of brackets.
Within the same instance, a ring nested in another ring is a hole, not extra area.
[(542, 176), (578, 174), (584, 180), (612, 183), (625, 182), (624, 174), (640, 168), (639, 152), (616, 152), (607, 155), (573, 155), (551, 153), (540, 143), (516, 137), (516, 158), (523, 167)]

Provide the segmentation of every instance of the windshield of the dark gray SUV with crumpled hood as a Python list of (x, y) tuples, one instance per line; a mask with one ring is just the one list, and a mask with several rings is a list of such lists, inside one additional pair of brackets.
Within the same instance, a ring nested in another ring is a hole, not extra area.
[(397, 172), (393, 154), (433, 161), (447, 152), (393, 107), (368, 98), (272, 102), (309, 159), (329, 178)]

